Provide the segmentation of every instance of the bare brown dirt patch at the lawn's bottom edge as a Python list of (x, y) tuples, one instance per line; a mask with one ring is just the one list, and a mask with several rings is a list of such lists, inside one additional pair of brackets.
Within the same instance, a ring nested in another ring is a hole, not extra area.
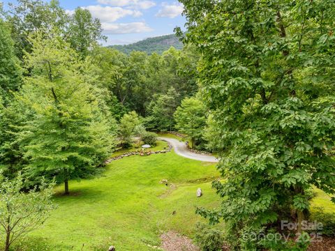
[(165, 251), (200, 251), (186, 236), (181, 236), (173, 231), (161, 235), (161, 248)]

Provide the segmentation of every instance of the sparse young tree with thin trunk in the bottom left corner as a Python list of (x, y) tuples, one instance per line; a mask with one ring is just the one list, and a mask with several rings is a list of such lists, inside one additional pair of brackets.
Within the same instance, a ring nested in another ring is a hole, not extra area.
[(22, 192), (23, 183), (21, 174), (14, 180), (0, 177), (0, 228), (6, 236), (5, 251), (18, 238), (43, 225), (55, 208), (51, 199), (54, 183), (42, 182), (38, 188)]

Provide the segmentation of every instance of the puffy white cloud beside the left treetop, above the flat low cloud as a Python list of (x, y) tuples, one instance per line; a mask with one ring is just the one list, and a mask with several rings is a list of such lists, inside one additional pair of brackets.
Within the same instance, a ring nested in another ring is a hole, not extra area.
[(98, 18), (101, 22), (114, 22), (121, 17), (131, 15), (133, 17), (140, 17), (142, 13), (138, 10), (126, 10), (120, 7), (110, 6), (84, 6), (82, 7), (91, 12), (92, 16)]

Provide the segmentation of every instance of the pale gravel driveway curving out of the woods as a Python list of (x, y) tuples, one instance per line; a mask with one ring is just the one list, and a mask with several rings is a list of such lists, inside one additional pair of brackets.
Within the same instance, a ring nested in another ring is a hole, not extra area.
[(190, 158), (192, 160), (200, 160), (204, 162), (218, 162), (218, 159), (212, 155), (192, 153), (187, 149), (186, 144), (184, 142), (179, 142), (178, 139), (171, 139), (168, 137), (158, 137), (158, 139), (164, 140), (172, 144), (174, 152), (185, 158)]

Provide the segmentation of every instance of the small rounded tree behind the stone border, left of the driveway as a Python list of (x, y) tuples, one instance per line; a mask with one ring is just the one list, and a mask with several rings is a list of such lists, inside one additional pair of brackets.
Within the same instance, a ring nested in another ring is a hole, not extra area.
[(136, 134), (138, 126), (140, 126), (140, 117), (136, 112), (128, 112), (124, 114), (119, 124), (119, 136), (121, 144), (128, 147), (133, 142), (133, 137)]

